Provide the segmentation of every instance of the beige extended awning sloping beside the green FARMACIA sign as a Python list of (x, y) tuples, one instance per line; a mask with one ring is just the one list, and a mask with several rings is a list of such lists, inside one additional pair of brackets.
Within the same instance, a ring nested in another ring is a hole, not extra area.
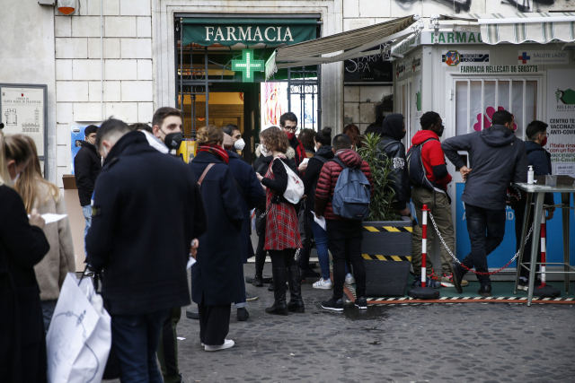
[[(281, 68), (328, 64), (373, 55), (379, 52), (379, 50), (374, 51), (374, 47), (411, 34), (413, 30), (409, 27), (417, 20), (419, 20), (417, 15), (406, 16), (390, 22), (381, 22), (358, 30), (349, 30), (321, 39), (278, 48), (266, 62), (265, 77), (269, 79)], [(338, 54), (341, 51), (343, 53)], [(323, 57), (323, 55), (333, 56)]]

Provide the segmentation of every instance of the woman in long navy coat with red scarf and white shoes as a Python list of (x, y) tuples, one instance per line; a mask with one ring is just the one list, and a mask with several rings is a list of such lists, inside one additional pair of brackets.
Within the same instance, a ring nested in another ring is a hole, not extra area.
[(226, 339), (231, 304), (242, 300), (244, 292), (239, 288), (243, 286), (243, 214), (223, 141), (224, 133), (217, 126), (199, 130), (198, 154), (190, 162), (208, 212), (208, 231), (199, 237), (197, 263), (191, 266), (191, 299), (198, 303), (199, 339), (206, 351), (234, 346)]

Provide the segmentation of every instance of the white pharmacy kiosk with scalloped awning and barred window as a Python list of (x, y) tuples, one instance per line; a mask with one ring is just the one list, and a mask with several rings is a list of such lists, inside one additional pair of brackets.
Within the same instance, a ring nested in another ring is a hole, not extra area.
[[(394, 60), (394, 110), (406, 118), (406, 146), (420, 129), (421, 114), (428, 110), (443, 118), (445, 139), (481, 131), (491, 126), (495, 111), (505, 109), (514, 115), (515, 134), (522, 140), (529, 122), (538, 119), (548, 124), (545, 148), (552, 154), (553, 174), (575, 177), (573, 16), (474, 15), (463, 26), (458, 25), (460, 20), (445, 24), (432, 19), (431, 30), (396, 44), (392, 52), (401, 58)], [(467, 153), (460, 154), (470, 166)], [(456, 255), (461, 258), (470, 251), (461, 202), (464, 182), (455, 166), (448, 165), (454, 176), (448, 192), (455, 201)], [(561, 202), (560, 196), (555, 199)], [(507, 218), (504, 242), (490, 256), (493, 268), (505, 265), (515, 254), (515, 217), (509, 207)], [(561, 213), (556, 214), (548, 222), (548, 232), (560, 232), (561, 220)], [(571, 251), (575, 251), (573, 243)], [(561, 255), (562, 241), (550, 240), (551, 262)]]

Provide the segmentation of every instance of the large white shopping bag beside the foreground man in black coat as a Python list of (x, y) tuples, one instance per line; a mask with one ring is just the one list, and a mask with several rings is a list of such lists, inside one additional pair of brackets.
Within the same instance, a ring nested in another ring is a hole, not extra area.
[(111, 318), (89, 278), (68, 273), (46, 337), (50, 383), (100, 383), (111, 349)]

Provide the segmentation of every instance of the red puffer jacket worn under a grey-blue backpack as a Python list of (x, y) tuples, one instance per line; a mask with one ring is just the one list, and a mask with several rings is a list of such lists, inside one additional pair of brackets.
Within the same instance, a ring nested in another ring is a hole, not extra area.
[[(374, 179), (371, 177), (371, 170), (366, 161), (359, 157), (358, 152), (351, 149), (346, 149), (339, 152), (338, 157), (340, 160), (348, 165), (349, 168), (361, 166), (361, 171), (366, 175), (369, 184), (371, 185), (371, 196), (375, 195)], [(335, 185), (338, 183), (341, 170), (343, 170), (339, 163), (335, 161), (327, 161), (323, 165), (320, 178), (317, 181), (317, 188), (315, 189), (315, 214), (323, 215), (326, 220), (345, 220), (340, 215), (333, 213), (332, 198)]]

